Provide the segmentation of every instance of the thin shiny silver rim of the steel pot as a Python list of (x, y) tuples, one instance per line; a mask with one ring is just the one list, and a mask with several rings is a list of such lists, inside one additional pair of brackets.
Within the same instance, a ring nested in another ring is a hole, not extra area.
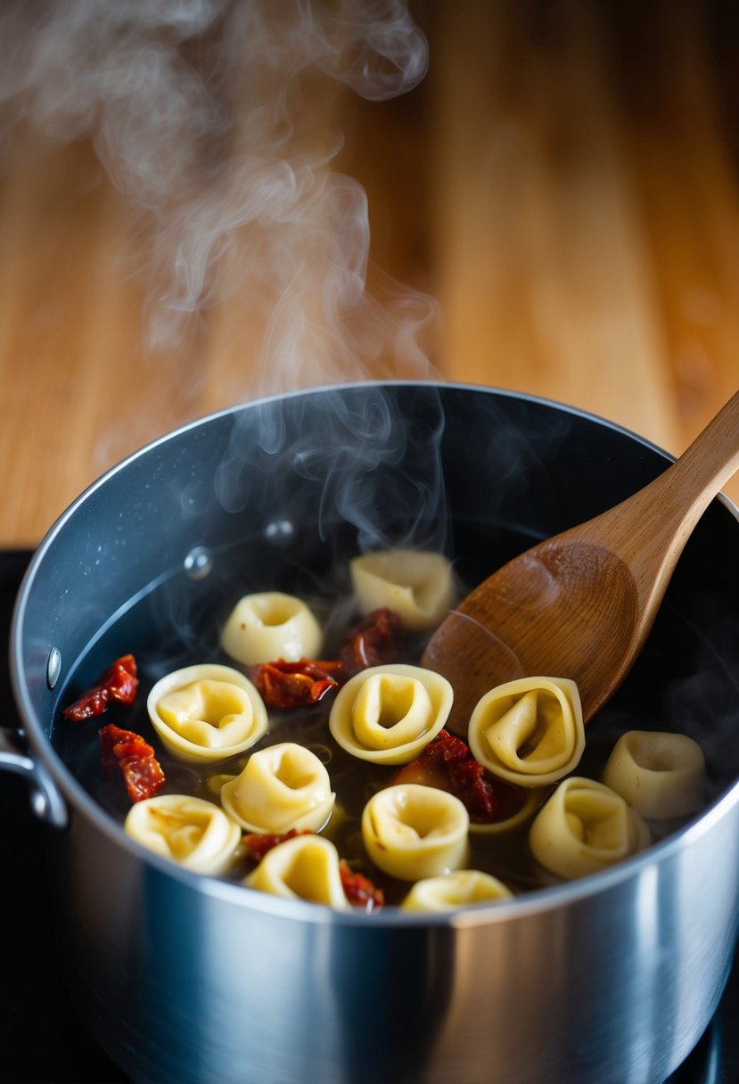
[[(243, 409), (258, 408), (270, 402), (284, 401), (298, 397), (321, 395), (330, 391), (342, 391), (349, 388), (359, 389), (363, 387), (427, 387), (432, 389), (438, 388), (440, 390), (459, 390), (477, 393), (482, 392), (485, 395), (492, 393), (503, 399), (539, 403), (559, 412), (570, 414), (574, 417), (581, 417), (586, 421), (595, 422), (611, 430), (622, 433), (645, 448), (658, 452), (667, 462), (674, 462), (675, 459), (675, 456), (671, 455), (658, 444), (649, 441), (645, 437), (639, 436), (625, 426), (619, 425), (618, 423), (611, 422), (608, 418), (601, 417), (592, 412), (582, 410), (581, 408), (571, 406), (567, 403), (561, 403), (557, 400), (547, 399), (542, 396), (533, 396), (527, 392), (514, 391), (506, 388), (445, 380), (360, 380), (352, 382), (350, 384), (336, 383), (303, 388), (284, 393), (274, 393), (259, 399), (249, 400), (235, 406), (226, 406), (213, 413), (194, 418), (177, 429), (155, 438), (142, 448), (132, 452), (130, 455), (126, 456), (119, 463), (112, 466), (98, 479), (91, 482), (91, 485), (88, 486), (60, 515), (55, 522), (50, 527), (49, 531), (44, 534), (31, 556), (21, 583), (13, 610), (10, 635), (11, 685), (21, 718), (23, 720), (24, 734), (28, 739), (28, 744), (33, 751), (40, 759), (46, 770), (50, 773), (53, 782), (59, 786), (72, 809), (75, 810), (80, 816), (91, 821), (92, 825), (105, 837), (107, 837), (111, 843), (118, 847), (122, 846), (133, 857), (143, 862), (144, 865), (151, 866), (153, 869), (169, 877), (173, 877), (193, 891), (205, 892), (207, 895), (221, 899), (228, 904), (246, 907), (247, 909), (265, 911), (275, 915), (284, 916), (285, 918), (293, 918), (301, 922), (309, 920), (314, 925), (336, 924), (339, 926), (349, 925), (351, 927), (376, 927), (377, 929), (385, 929), (389, 926), (423, 928), (433, 926), (459, 928), (481, 926), (498, 921), (510, 922), (517, 919), (523, 919), (530, 915), (558, 909), (563, 905), (576, 903), (584, 898), (614, 890), (623, 881), (630, 880), (633, 876), (639, 875), (647, 867), (657, 867), (662, 862), (669, 861), (671, 855), (676, 850), (682, 850), (684, 847), (696, 844), (716, 822), (726, 816), (734, 805), (739, 802), (739, 779), (736, 779), (727, 790), (719, 795), (709, 806), (702, 810), (700, 814), (697, 814), (689, 823), (671, 834), (667, 838), (658, 843), (650, 844), (639, 854), (633, 855), (632, 857), (626, 859), (610, 868), (596, 874), (591, 874), (578, 880), (566, 881), (558, 885), (552, 885), (546, 888), (528, 891), (526, 893), (521, 893), (520, 895), (516, 895), (515, 899), (510, 901), (503, 900), (492, 903), (480, 903), (468, 905), (458, 911), (442, 912), (439, 914), (402, 912), (398, 907), (383, 908), (376, 914), (367, 914), (366, 912), (361, 911), (340, 912), (320, 904), (308, 903), (303, 900), (282, 899), (280, 896), (256, 891), (237, 882), (193, 873), (166, 857), (154, 854), (152, 851), (147, 850), (131, 837), (126, 835), (122, 826), (114, 821), (114, 818), (106, 813), (103, 806), (101, 806), (87, 792), (87, 790), (85, 790), (61, 758), (56, 754), (51, 745), (50, 738), (37, 721), (35, 710), (30, 702), (30, 696), (27, 691), (25, 675), (23, 672), (21, 630), (25, 619), (28, 595), (38, 568), (44, 560), (47, 553), (54, 542), (54, 539), (64, 529), (67, 520), (75, 515), (77, 509), (87, 501), (89, 495), (105, 485), (109, 478), (124, 470), (130, 463), (138, 460), (140, 456), (145, 455), (161, 444), (166, 444), (173, 438), (186, 434), (191, 429), (196, 429), (203, 425), (216, 422), (221, 417), (234, 415)], [(724, 494), (718, 494), (715, 500), (727, 507), (735, 519), (739, 521), (739, 509), (737, 509), (728, 498)]]

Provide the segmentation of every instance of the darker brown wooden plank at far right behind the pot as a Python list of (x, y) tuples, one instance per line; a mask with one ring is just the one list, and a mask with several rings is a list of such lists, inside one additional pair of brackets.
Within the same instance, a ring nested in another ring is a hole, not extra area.
[[(737, 117), (736, 99), (723, 96), (730, 91), (721, 68), (739, 57), (724, 52), (719, 14), (716, 5), (701, 13), (686, 0), (648, 5), (643, 48), (634, 50), (627, 13), (614, 4), (609, 38), (621, 140), (675, 388), (677, 450), (739, 387)], [(731, 40), (736, 50), (736, 35)], [(739, 494), (736, 482), (732, 492)]]

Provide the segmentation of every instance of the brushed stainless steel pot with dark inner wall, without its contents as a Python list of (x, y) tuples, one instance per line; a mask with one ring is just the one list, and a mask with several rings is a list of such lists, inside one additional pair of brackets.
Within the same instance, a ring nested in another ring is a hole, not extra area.
[(711, 801), (607, 873), (440, 917), (278, 900), (145, 852), (54, 733), (70, 683), (112, 650), (172, 668), (246, 583), (309, 570), (341, 590), (348, 554), (399, 542), (444, 547), (471, 583), (666, 463), (623, 429), (524, 396), (353, 385), (191, 425), (61, 518), (12, 632), (28, 748), (0, 735), (0, 766), (28, 775), (51, 822), (70, 989), (137, 1081), (651, 1084), (680, 1063), (737, 937), (739, 522), (727, 502), (708, 509), (641, 659), (588, 726), (594, 748), (634, 719), (693, 734)]

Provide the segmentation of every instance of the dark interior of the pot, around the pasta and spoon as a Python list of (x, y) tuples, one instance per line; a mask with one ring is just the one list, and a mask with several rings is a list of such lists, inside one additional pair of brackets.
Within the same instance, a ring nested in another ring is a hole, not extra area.
[[(206, 420), (113, 472), (42, 546), (16, 630), (31, 726), (122, 823), (128, 801), (119, 782), (102, 774), (99, 727), (115, 722), (137, 731), (159, 756), (145, 710), (148, 688), (186, 664), (233, 664), (218, 641), (242, 595), (280, 590), (306, 599), (325, 628), (323, 657), (332, 658), (356, 619), (348, 572), (355, 554), (390, 546), (444, 552), (464, 593), (666, 465), (644, 441), (576, 411), (453, 386), (322, 389)], [(617, 737), (638, 728), (699, 743), (706, 804), (736, 780), (738, 543), (734, 511), (713, 502), (634, 670), (587, 726), (579, 775), (598, 777)], [(423, 643), (410, 640), (409, 661)], [(42, 680), (51, 646), (64, 660), (53, 692)], [(129, 651), (141, 676), (134, 709), (114, 706), (107, 718), (86, 723), (61, 718), (62, 707)], [(351, 851), (367, 792), (393, 770), (350, 763), (332, 743), (327, 715), (327, 704), (272, 712), (265, 740), (300, 740), (324, 760), (346, 811), (336, 841)], [(207, 776), (235, 774), (244, 758), (205, 775), (166, 754), (160, 760), (168, 789), (212, 797)], [(682, 826), (652, 824), (652, 838)], [(515, 891), (556, 881), (532, 864), (524, 833), (485, 844), (475, 861)], [(389, 902), (399, 902), (398, 886), (385, 887)]]

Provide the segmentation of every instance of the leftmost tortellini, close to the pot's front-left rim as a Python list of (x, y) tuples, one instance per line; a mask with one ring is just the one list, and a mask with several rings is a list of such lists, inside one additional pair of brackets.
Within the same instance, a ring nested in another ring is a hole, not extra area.
[(135, 802), (124, 827), (150, 851), (199, 874), (224, 873), (242, 840), (242, 829), (222, 809), (190, 795)]

